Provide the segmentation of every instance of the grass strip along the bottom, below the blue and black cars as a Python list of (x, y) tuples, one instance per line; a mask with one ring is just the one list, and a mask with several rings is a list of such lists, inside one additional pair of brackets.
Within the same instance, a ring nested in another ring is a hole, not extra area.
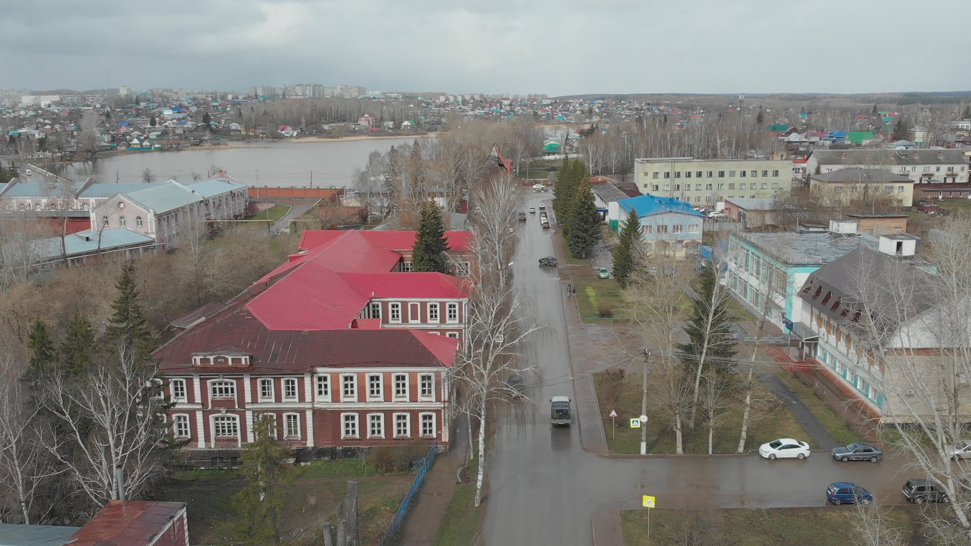
[[(660, 499), (658, 499), (660, 500)], [(918, 509), (884, 507), (894, 527), (903, 529), (909, 544), (917, 528)], [(651, 510), (651, 539), (648, 514), (644, 510), (620, 513), (627, 546), (660, 544), (720, 544), (725, 546), (776, 546), (813, 544), (845, 546), (862, 544), (854, 533), (858, 520), (852, 506), (820, 508), (756, 508)], [(690, 538), (689, 538), (690, 537)], [(693, 538), (693, 540), (691, 540)]]

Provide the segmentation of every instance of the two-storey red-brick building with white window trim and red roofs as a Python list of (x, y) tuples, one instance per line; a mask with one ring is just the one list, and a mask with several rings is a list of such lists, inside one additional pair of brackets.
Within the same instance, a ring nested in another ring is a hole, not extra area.
[[(448, 235), (452, 256), (468, 253), (468, 233)], [(414, 241), (414, 231), (305, 231), (301, 252), (249, 290), (177, 319), (184, 331), (154, 357), (190, 459), (237, 457), (264, 414), (311, 455), (415, 439), (448, 446), (468, 285), (411, 272)]]

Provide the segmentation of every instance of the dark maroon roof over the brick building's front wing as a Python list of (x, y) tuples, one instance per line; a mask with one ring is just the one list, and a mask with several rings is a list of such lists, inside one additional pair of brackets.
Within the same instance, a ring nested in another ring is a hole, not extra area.
[[(163, 373), (283, 373), (317, 366), (452, 366), (458, 340), (408, 328), (271, 330), (242, 303), (174, 337), (154, 353)], [(193, 366), (192, 356), (238, 347), (251, 365)]]

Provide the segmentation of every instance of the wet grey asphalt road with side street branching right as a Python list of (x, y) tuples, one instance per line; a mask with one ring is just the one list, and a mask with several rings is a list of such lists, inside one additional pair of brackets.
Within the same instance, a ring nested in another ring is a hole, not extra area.
[[(527, 192), (523, 210), (550, 205), (552, 194)], [(554, 224), (555, 225), (555, 224)], [(534, 358), (542, 383), (528, 391), (535, 405), (504, 408), (489, 455), (485, 544), (508, 546), (593, 544), (591, 520), (597, 514), (640, 506), (641, 495), (654, 495), (657, 506), (685, 507), (716, 503), (722, 507), (822, 506), (833, 481), (852, 481), (890, 504), (902, 503), (907, 480), (901, 461), (887, 458), (841, 463), (827, 452), (805, 461), (764, 461), (745, 456), (650, 456), (605, 458), (587, 453), (574, 422), (550, 425), (549, 399), (576, 400), (570, 380), (563, 297), (555, 268), (539, 267), (554, 256), (552, 234), (539, 214), (519, 222), (519, 252), (514, 285), (535, 302), (536, 313), (551, 326), (537, 343)], [(757, 449), (757, 446), (755, 446)], [(831, 507), (832, 509), (844, 509)]]

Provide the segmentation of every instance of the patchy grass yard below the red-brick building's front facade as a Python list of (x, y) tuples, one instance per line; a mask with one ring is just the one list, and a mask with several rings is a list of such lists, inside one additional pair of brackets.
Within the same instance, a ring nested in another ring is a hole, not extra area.
[[(347, 482), (358, 479), (361, 544), (376, 546), (414, 480), (411, 473), (383, 474), (370, 464), (362, 469), (361, 461), (353, 459), (314, 461), (287, 473), (293, 483), (286, 488), (281, 529), (285, 543), (295, 545), (322, 544), (318, 519), (329, 518), (336, 526), (334, 510), (344, 498)], [(244, 486), (239, 470), (186, 470), (152, 498), (188, 503), (192, 544), (227, 544), (231, 542), (227, 529), (236, 521), (232, 495)]]

